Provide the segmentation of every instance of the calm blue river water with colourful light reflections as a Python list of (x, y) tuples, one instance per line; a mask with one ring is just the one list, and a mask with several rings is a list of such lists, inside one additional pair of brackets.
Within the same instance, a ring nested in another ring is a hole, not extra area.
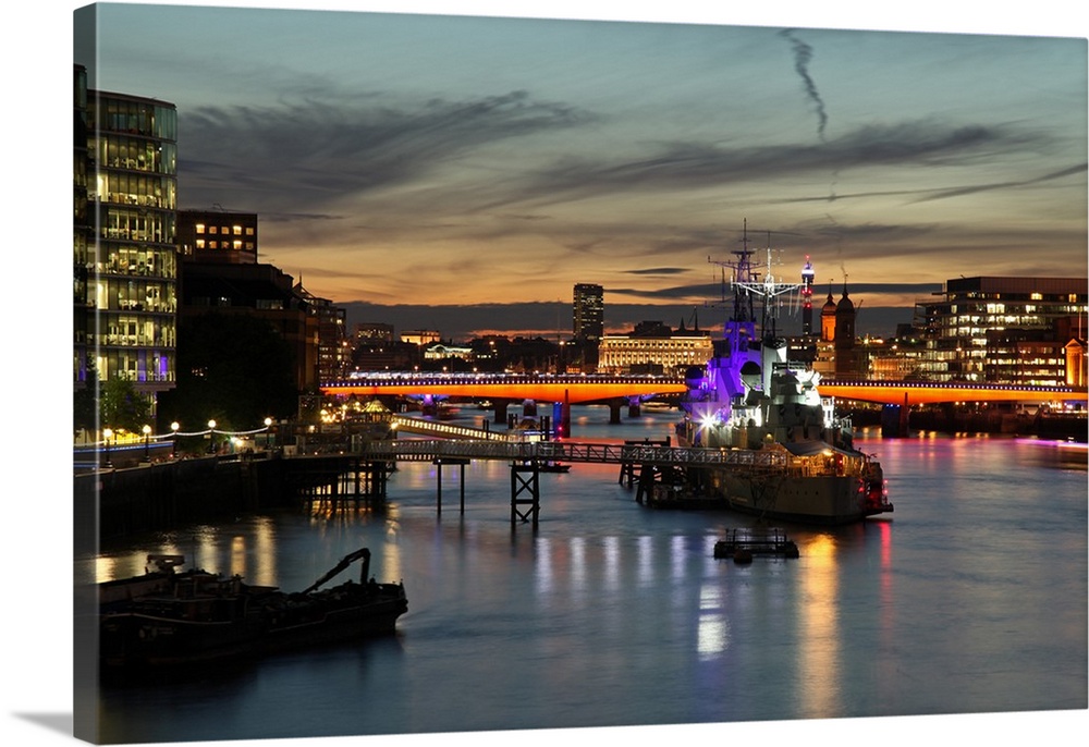
[[(466, 411), (463, 421), (479, 420)], [(675, 413), (573, 440), (664, 438)], [(442, 476), (404, 464), (384, 514), (306, 506), (131, 537), (77, 580), (143, 572), (148, 552), (298, 590), (359, 547), (403, 579), (394, 637), (110, 685), (118, 742), (435, 734), (1087, 707), (1086, 451), (1000, 437), (856, 442), (895, 513), (784, 525), (795, 560), (712, 556), (729, 512), (635, 503), (615, 466), (541, 476), (540, 526), (512, 528), (503, 463)], [(346, 573), (352, 573), (351, 571)]]

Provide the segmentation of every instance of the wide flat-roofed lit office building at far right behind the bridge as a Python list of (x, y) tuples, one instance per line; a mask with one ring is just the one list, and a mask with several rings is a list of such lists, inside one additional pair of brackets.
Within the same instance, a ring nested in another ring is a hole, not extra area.
[[(1062, 385), (1072, 341), (1085, 340), (1085, 278), (957, 278), (916, 304), (922, 378)], [(1076, 347), (1076, 346), (1075, 346)], [(1080, 366), (1081, 364), (1076, 364)]]

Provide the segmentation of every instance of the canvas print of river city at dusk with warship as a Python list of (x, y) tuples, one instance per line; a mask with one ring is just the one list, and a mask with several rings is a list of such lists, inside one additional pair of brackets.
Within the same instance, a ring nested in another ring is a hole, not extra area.
[(74, 32), (76, 737), (1085, 711), (1085, 38)]

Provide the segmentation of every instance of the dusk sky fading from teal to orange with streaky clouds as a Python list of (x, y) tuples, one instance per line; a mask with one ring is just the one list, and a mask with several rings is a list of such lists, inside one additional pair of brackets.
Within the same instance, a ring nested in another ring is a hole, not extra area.
[(180, 208), (257, 212), (338, 304), (433, 307), (350, 321), (568, 333), (589, 282), (615, 330), (718, 324), (744, 221), (861, 332), (947, 278), (1086, 275), (1084, 38), (99, 8), (76, 61), (176, 105)]

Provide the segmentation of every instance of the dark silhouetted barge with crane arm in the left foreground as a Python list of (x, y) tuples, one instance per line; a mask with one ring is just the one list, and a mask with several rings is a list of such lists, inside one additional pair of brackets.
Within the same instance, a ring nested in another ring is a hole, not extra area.
[[(319, 590), (357, 560), (359, 580)], [(368, 579), (370, 551), (345, 555), (298, 592), (203, 570), (182, 555), (148, 555), (144, 576), (99, 585), (99, 659), (106, 670), (220, 661), (393, 633), (408, 611), (404, 584)]]

